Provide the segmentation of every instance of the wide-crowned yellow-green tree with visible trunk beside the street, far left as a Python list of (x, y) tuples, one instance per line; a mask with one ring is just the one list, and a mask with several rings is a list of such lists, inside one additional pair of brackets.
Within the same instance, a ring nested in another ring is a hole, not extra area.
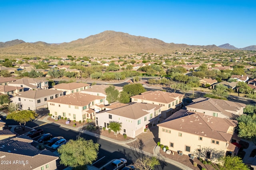
[(6, 119), (12, 119), (16, 122), (18, 122), (21, 126), (23, 123), (22, 129), (25, 130), (26, 122), (32, 121), (36, 119), (36, 112), (32, 110), (21, 110), (21, 111), (13, 111), (12, 113), (8, 114), (6, 116)]

